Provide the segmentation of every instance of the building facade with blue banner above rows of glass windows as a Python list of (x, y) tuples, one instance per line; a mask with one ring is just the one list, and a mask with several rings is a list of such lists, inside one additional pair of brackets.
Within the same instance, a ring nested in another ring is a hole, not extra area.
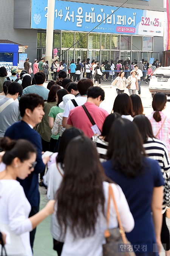
[[(0, 39), (28, 45), (31, 62), (45, 54), (47, 0), (2, 0)], [(53, 48), (71, 59), (100, 62), (162, 59), (163, 0), (56, 0)], [(121, 8), (119, 8), (121, 6)], [(10, 15), (9, 15), (9, 10)], [(90, 32), (91, 31), (91, 32)], [(89, 33), (90, 32), (90, 33)], [(70, 48), (68, 50), (68, 48)]]

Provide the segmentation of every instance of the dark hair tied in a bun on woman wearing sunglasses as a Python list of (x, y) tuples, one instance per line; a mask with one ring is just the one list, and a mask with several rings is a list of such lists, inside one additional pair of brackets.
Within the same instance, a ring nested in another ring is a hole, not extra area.
[(34, 145), (25, 139), (11, 140), (4, 137), (0, 140), (0, 146), (5, 150), (2, 161), (7, 166), (11, 165), (16, 157), (23, 162), (30, 158), (30, 153), (37, 153)]

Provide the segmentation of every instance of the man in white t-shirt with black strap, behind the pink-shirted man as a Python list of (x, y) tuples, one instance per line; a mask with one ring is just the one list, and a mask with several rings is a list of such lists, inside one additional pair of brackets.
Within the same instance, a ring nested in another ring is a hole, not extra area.
[(79, 90), (80, 96), (76, 97), (74, 100), (69, 100), (66, 103), (62, 122), (64, 128), (66, 127), (70, 110), (76, 106), (82, 106), (87, 101), (87, 91), (90, 86), (93, 86), (93, 82), (88, 78), (83, 78), (77, 84), (77, 89)]

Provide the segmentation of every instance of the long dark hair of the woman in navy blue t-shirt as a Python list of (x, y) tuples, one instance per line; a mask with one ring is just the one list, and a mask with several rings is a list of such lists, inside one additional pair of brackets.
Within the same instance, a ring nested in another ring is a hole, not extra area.
[(113, 168), (129, 178), (135, 178), (144, 171), (143, 140), (138, 127), (128, 119), (118, 118), (110, 130), (108, 159)]

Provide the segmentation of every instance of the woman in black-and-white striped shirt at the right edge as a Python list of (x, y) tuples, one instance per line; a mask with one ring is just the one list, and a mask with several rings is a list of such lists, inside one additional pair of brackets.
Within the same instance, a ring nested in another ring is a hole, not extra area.
[[(164, 142), (154, 137), (150, 121), (144, 115), (134, 117), (133, 122), (136, 123), (144, 141), (144, 148), (148, 158), (157, 160), (161, 168), (162, 176), (164, 179), (170, 176), (170, 159), (168, 150)], [(165, 200), (162, 205), (162, 230), (161, 242), (165, 249), (166, 256), (170, 255), (170, 233), (166, 225), (166, 204)]]

